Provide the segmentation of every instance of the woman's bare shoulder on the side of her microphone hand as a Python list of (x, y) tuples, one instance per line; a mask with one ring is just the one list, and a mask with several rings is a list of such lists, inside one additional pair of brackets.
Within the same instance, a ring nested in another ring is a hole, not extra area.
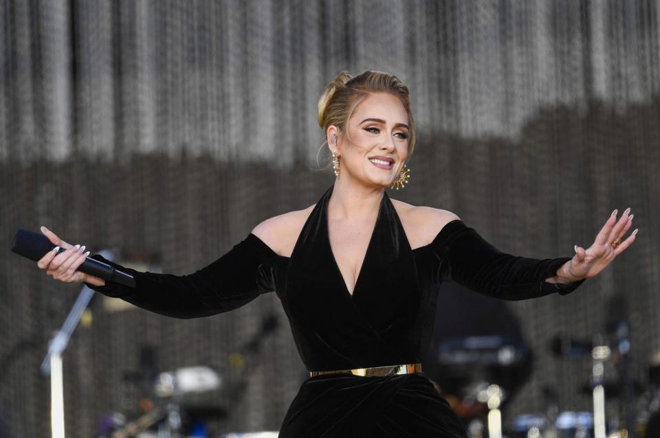
[(270, 249), (279, 255), (291, 257), (298, 235), (315, 205), (267, 218), (252, 229), (252, 234), (263, 240)]

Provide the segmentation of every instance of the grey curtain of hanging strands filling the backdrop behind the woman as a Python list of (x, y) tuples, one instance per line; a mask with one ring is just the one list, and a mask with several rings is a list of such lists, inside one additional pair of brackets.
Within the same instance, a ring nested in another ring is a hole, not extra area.
[[(604, 332), (613, 299), (645, 382), (660, 350), (659, 1), (8, 0), (0, 17), (10, 436), (50, 434), (39, 365), (79, 290), (10, 253), (14, 231), (45, 225), (167, 273), (206, 266), (331, 184), (317, 171), (316, 102), (342, 69), (410, 87), (419, 144), (394, 198), (454, 211), (498, 249), (538, 258), (588, 246), (615, 208), (635, 213), (637, 242), (599, 277), (507, 303), (536, 360), (505, 422), (542, 411), (548, 386), (562, 410), (591, 407), (579, 390), (589, 360), (555, 358), (548, 344)], [(188, 401), (216, 408), (214, 433), (276, 430), (305, 378), (274, 294), (192, 320), (111, 312), (102, 297), (90, 309), (63, 358), (70, 437), (94, 435), (107, 413), (135, 417), (145, 367), (219, 369), (222, 389)]]

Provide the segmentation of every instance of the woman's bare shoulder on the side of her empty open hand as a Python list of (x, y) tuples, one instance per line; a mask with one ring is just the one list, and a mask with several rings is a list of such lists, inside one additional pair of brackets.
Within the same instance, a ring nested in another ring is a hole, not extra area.
[(392, 204), (397, 210), (412, 249), (430, 244), (446, 224), (461, 219), (445, 209), (411, 205), (396, 199), (392, 199)]

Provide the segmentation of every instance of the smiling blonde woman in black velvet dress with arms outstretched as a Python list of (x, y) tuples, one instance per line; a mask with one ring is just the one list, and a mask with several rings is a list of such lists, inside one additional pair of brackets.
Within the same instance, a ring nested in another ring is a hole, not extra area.
[[(459, 419), (420, 371), (441, 281), (501, 299), (569, 293), (635, 240), (630, 209), (615, 210), (595, 242), (573, 257), (498, 251), (451, 211), (390, 199), (415, 146), (408, 89), (395, 76), (342, 71), (318, 104), (336, 179), (318, 203), (258, 224), (191, 275), (141, 273), (136, 287), (79, 273), (85, 247), (38, 264), (65, 282), (179, 318), (226, 312), (276, 291), (310, 371), (281, 437), (464, 437)], [(87, 253), (89, 254), (89, 253)]]

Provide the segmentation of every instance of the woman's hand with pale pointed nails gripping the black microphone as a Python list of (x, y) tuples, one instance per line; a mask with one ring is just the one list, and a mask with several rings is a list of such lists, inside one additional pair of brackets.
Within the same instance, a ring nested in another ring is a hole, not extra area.
[[(78, 266), (85, 262), (85, 258), (89, 255), (89, 251), (85, 253), (85, 246), (72, 246), (57, 237), (55, 233), (41, 227), (41, 232), (52, 242), (57, 245), (53, 251), (48, 251), (46, 255), (41, 257), (37, 266), (46, 270), (47, 275), (52, 275), (56, 280), (63, 281), (64, 283), (89, 283), (94, 286), (105, 286), (105, 280), (94, 275), (89, 275), (77, 271)], [(57, 253), (59, 248), (64, 248), (66, 251)]]

